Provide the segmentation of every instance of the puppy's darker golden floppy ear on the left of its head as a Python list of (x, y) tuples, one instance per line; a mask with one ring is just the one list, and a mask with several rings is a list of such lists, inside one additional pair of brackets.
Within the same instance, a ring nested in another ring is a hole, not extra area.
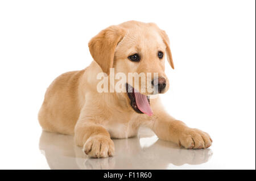
[(108, 75), (109, 69), (113, 66), (115, 47), (124, 34), (125, 31), (121, 27), (110, 26), (89, 41), (90, 54), (102, 71)]

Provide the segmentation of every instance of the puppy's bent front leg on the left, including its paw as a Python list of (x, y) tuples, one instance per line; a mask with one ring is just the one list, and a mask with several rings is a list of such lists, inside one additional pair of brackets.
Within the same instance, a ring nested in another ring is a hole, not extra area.
[(114, 142), (110, 134), (96, 121), (79, 119), (75, 127), (75, 142), (83, 146), (83, 151), (89, 157), (105, 158), (114, 155)]

